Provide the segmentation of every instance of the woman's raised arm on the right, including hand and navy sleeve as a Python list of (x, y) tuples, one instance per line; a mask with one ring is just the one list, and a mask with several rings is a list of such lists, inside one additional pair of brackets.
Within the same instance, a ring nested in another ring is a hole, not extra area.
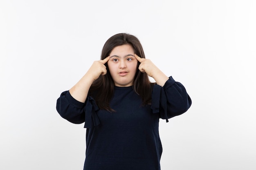
[(175, 82), (172, 77), (167, 77), (149, 59), (141, 58), (136, 54), (135, 57), (140, 62), (139, 70), (153, 77), (157, 83), (152, 94), (153, 113), (159, 113), (159, 116), (166, 121), (185, 113), (191, 106), (191, 98), (184, 86), (180, 82)]

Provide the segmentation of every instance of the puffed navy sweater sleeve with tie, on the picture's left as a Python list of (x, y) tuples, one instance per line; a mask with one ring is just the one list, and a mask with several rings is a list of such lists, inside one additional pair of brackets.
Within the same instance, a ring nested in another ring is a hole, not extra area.
[(87, 97), (85, 103), (74, 99), (69, 91), (64, 91), (57, 99), (56, 110), (58, 113), (74, 124), (82, 124), (85, 122), (85, 128), (90, 128), (92, 123), (94, 126), (99, 124), (99, 118), (95, 111), (99, 110), (92, 97)]

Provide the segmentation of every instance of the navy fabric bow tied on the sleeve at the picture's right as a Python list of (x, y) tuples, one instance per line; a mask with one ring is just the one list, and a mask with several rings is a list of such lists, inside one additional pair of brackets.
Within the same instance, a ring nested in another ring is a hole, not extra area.
[[(153, 113), (159, 113), (159, 116), (162, 119), (166, 119), (166, 122), (168, 122), (166, 103), (167, 99), (164, 93), (164, 88), (155, 84), (153, 86), (151, 109), (153, 110)], [(160, 110), (160, 104), (163, 110)]]

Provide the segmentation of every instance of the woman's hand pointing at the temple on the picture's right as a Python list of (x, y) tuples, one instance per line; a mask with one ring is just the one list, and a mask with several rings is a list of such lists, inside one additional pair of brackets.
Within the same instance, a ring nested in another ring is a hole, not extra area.
[(134, 54), (135, 58), (140, 62), (139, 71), (142, 73), (147, 73), (150, 77), (153, 77), (153, 73), (158, 70), (157, 66), (151, 62), (151, 60), (146, 58), (141, 58), (137, 54)]

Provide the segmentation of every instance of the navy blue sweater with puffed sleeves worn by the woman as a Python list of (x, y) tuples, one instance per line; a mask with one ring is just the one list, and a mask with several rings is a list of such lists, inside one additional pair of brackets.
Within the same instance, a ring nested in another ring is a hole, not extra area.
[(81, 103), (69, 91), (61, 93), (58, 113), (74, 124), (85, 122), (87, 128), (84, 170), (160, 170), (159, 118), (168, 121), (186, 112), (191, 99), (172, 77), (150, 93), (152, 104), (141, 106), (132, 86), (115, 87), (112, 113), (99, 110), (92, 97)]

